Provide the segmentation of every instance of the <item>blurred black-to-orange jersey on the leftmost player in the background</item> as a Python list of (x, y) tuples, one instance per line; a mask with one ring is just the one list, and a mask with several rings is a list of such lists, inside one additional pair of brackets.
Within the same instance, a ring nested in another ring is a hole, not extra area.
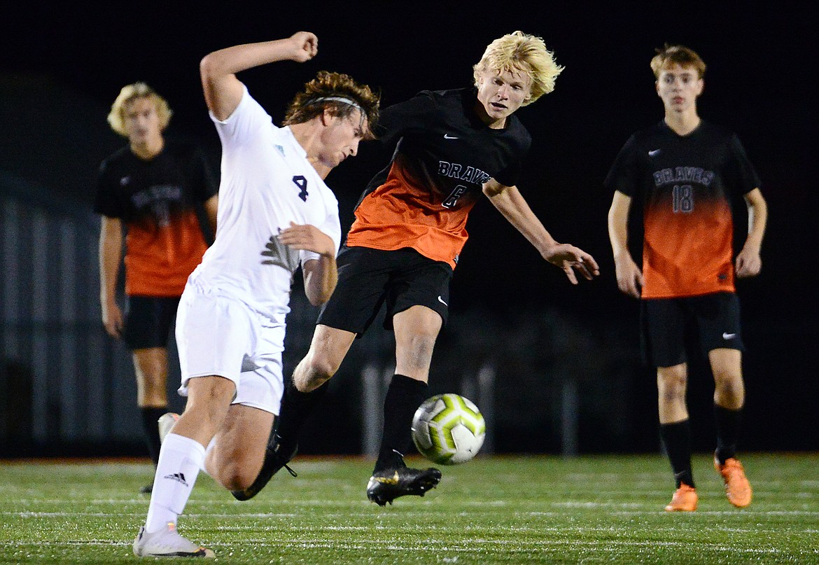
[(204, 154), (191, 143), (166, 141), (152, 160), (123, 147), (102, 161), (94, 211), (126, 228), (126, 294), (182, 295), (207, 249), (196, 205), (217, 190)]

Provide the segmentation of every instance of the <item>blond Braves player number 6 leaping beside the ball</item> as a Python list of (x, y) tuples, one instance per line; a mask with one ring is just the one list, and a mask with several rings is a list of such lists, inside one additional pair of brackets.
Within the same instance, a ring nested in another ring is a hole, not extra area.
[(285, 391), (278, 427), (247, 499), (296, 454), (302, 424), (356, 336), (386, 303), (396, 336), (396, 374), (384, 401), (378, 459), (367, 496), (384, 505), (437, 486), (435, 468), (407, 468), (415, 409), (428, 396), (429, 367), (446, 323), (449, 284), (467, 240), (469, 210), (486, 196), (541, 256), (577, 284), (599, 273), (594, 258), (546, 231), (515, 184), (531, 138), (514, 116), (554, 89), (562, 67), (541, 38), (515, 32), (493, 41), (473, 67), (475, 88), (423, 91), (382, 112), (382, 141), (396, 143), (369, 183), (338, 257), (336, 291), (319, 314), (310, 351)]

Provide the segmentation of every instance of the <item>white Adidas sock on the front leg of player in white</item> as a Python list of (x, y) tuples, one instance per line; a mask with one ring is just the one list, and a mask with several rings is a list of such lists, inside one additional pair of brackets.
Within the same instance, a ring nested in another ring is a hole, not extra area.
[(198, 441), (174, 433), (165, 437), (145, 520), (148, 533), (165, 529), (168, 522), (176, 523), (188, 503), (204, 459), (205, 448)]

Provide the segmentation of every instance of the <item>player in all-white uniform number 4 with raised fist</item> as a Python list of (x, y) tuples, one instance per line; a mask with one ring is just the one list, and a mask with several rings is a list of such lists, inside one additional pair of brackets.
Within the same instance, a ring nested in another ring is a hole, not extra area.
[(338, 205), (324, 179), (372, 137), (378, 95), (321, 71), (276, 127), (236, 73), (304, 62), (314, 34), (248, 43), (201, 61), (202, 88), (222, 143), (215, 242), (194, 270), (177, 314), (185, 410), (165, 436), (145, 525), (133, 553), (212, 557), (176, 531), (200, 469), (229, 490), (247, 488), (265, 457), (283, 391), (284, 322), (301, 266), (311, 304), (337, 281)]

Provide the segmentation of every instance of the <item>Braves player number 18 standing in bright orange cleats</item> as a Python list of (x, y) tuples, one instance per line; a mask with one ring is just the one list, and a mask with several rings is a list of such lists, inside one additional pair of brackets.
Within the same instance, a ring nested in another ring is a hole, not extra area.
[[(744, 405), (740, 307), (734, 278), (759, 273), (767, 205), (759, 179), (734, 133), (701, 120), (705, 63), (681, 45), (666, 45), (651, 60), (665, 118), (629, 138), (606, 186), (618, 287), (641, 298), (643, 343), (657, 368), (660, 431), (676, 478), (666, 510), (693, 512), (685, 331), (693, 324), (714, 378), (717, 450), (714, 466), (737, 507), (751, 502), (751, 486), (736, 459)], [(643, 267), (627, 247), (633, 197), (643, 206)], [(733, 264), (731, 200), (744, 197), (749, 232)]]

